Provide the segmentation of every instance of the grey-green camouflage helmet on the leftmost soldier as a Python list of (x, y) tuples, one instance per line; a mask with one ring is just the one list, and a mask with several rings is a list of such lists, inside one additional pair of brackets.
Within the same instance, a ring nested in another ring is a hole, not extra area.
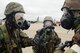
[(6, 6), (4, 14), (5, 15), (9, 15), (12, 12), (22, 12), (22, 13), (25, 13), (24, 9), (23, 9), (23, 6), (21, 4), (19, 4), (19, 3), (16, 3), (16, 2), (10, 2)]

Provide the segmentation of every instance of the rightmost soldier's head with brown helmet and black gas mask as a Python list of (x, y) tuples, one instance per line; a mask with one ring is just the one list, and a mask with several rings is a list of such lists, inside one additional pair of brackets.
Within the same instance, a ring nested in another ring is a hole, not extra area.
[(61, 18), (61, 26), (65, 29), (76, 29), (80, 20), (80, 1), (65, 0), (61, 9), (64, 14)]

